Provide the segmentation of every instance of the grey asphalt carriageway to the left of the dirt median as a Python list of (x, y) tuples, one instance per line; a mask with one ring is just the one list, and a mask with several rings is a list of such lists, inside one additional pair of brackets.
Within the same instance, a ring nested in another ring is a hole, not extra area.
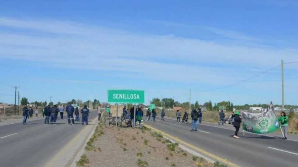
[[(88, 121), (95, 117), (97, 112), (90, 112)], [(69, 125), (67, 117), (57, 120), (56, 125), (44, 125), (44, 120), (35, 120), (27, 125), (0, 126), (0, 166), (43, 166), (83, 128), (81, 122)]]

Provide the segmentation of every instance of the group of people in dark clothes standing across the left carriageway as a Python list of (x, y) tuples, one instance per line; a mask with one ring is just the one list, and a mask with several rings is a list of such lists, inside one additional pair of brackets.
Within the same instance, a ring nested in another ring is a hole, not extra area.
[[(67, 119), (68, 119), (68, 124), (72, 125), (75, 124), (75, 121), (79, 121), (79, 108), (76, 107), (76, 109), (72, 106), (72, 105), (67, 105), (65, 108), (65, 111), (67, 113)], [(88, 115), (89, 115), (89, 109), (87, 108), (87, 105), (84, 105), (84, 108), (81, 109), (81, 113), (82, 113), (82, 125), (86, 124), (88, 125)], [(63, 119), (64, 116), (64, 107), (61, 106), (57, 107), (57, 105), (54, 105), (51, 107), (51, 105), (47, 105), (47, 107), (45, 107), (42, 110), (42, 114), (43, 117), (45, 117), (44, 119), (44, 124), (48, 125), (48, 124), (56, 124), (56, 120), (58, 119), (58, 113), (60, 113), (60, 117), (61, 119)], [(26, 124), (27, 118), (32, 118), (32, 114), (33, 114), (33, 109), (30, 107), (29, 109), (27, 108), (27, 106), (24, 106), (23, 108), (23, 124)], [(74, 114), (75, 114), (75, 118), (74, 118)], [(36, 118), (38, 116), (38, 110), (35, 110), (35, 115)]]

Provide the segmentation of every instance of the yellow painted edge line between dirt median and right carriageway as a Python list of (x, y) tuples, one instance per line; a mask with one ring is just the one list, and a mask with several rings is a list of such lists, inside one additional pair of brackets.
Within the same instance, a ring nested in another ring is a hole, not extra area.
[[(146, 125), (146, 124), (144, 124), (144, 125)], [(219, 162), (223, 162), (223, 163), (225, 163), (225, 164), (227, 164), (227, 165), (229, 165), (229, 166), (232, 166), (232, 167), (240, 167), (239, 165), (236, 165), (236, 164), (234, 164), (234, 163), (228, 161), (227, 159), (224, 159), (224, 158), (221, 158), (221, 157), (219, 157), (219, 156), (216, 156), (216, 155), (214, 155), (214, 154), (212, 154), (212, 153), (210, 153), (210, 152), (207, 152), (207, 151), (205, 151), (205, 150), (203, 150), (203, 149), (201, 149), (201, 148), (197, 148), (196, 146), (194, 146), (194, 145), (192, 145), (192, 144), (189, 144), (189, 143), (186, 143), (185, 141), (180, 140), (180, 139), (178, 139), (177, 137), (174, 137), (174, 136), (169, 135), (169, 134), (167, 134), (167, 133), (165, 133), (165, 132), (163, 132), (163, 131), (160, 131), (160, 130), (158, 130), (158, 129), (155, 129), (155, 128), (149, 126), (149, 125), (146, 125), (146, 126), (149, 127), (149, 128), (151, 128), (151, 129), (153, 129), (154, 131), (157, 131), (157, 132), (161, 133), (162, 135), (165, 135), (166, 137), (169, 137), (169, 138), (174, 139), (176, 142), (178, 142), (178, 143), (180, 143), (180, 144), (182, 144), (182, 145), (184, 145), (184, 146), (187, 146), (187, 147), (192, 148), (192, 149), (194, 149), (194, 150), (196, 150), (196, 151), (198, 151), (198, 152), (201, 152), (202, 154), (205, 154), (205, 155), (207, 155), (207, 156), (210, 156), (210, 157), (212, 157), (213, 159), (215, 159), (215, 160), (217, 160), (217, 161), (219, 161)]]

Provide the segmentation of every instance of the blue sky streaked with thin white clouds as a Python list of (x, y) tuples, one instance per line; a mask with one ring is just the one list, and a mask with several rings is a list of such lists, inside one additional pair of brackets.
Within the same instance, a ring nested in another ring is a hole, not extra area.
[[(106, 90), (200, 104), (281, 104), (298, 61), (297, 1), (7, 1), (0, 5), (0, 101), (106, 101)], [(298, 105), (298, 63), (285, 103)], [(216, 90), (214, 90), (216, 89)], [(206, 91), (214, 90), (214, 91)], [(91, 95), (91, 96), (90, 96)]]

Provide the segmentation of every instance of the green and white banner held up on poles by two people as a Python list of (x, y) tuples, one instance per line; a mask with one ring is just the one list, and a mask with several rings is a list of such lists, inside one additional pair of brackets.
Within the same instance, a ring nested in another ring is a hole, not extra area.
[(280, 126), (272, 102), (262, 113), (242, 111), (242, 122), (243, 130), (252, 133), (271, 133), (278, 130)]

